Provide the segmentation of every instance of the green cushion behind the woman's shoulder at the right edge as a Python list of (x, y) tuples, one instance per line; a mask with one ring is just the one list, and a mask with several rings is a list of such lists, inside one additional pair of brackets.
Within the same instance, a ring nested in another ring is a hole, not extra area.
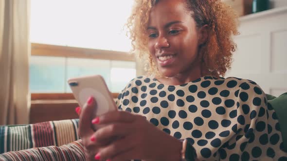
[(274, 97), (267, 95), (268, 102), (277, 114), (283, 138), (284, 150), (287, 152), (287, 93)]

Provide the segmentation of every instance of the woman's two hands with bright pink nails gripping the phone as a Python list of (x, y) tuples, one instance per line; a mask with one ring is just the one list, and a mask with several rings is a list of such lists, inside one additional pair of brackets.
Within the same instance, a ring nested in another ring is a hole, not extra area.
[[(180, 161), (181, 142), (143, 116), (115, 111), (91, 121), (91, 106), (87, 103), (82, 109), (79, 124), (87, 159)], [(94, 132), (91, 122), (105, 126)]]

